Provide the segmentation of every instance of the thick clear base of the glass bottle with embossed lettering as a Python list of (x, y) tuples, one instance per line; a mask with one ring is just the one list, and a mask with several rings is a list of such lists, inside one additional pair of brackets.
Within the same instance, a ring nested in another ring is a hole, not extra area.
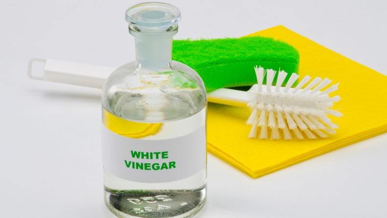
[(110, 190), (105, 204), (118, 218), (190, 218), (206, 202), (206, 187), (194, 190)]

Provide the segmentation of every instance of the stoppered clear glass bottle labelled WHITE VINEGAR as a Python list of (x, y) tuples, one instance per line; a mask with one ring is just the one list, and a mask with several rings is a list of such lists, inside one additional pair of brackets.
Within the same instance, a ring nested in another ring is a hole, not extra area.
[(206, 90), (172, 61), (180, 11), (166, 3), (126, 12), (136, 61), (102, 91), (105, 203), (117, 217), (194, 216), (206, 201)]

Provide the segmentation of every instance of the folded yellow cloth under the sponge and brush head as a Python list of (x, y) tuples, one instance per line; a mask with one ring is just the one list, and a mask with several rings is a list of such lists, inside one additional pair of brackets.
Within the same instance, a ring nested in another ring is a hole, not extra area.
[[(250, 36), (283, 40), (300, 51), (300, 75), (329, 78), (340, 83), (342, 100), (335, 109), (344, 117), (330, 117), (340, 124), (335, 135), (316, 140), (248, 139), (251, 126), (245, 122), (250, 111), (210, 103), (208, 107), (208, 146), (210, 153), (253, 178), (273, 173), (313, 157), (343, 148), (387, 131), (387, 77), (329, 50), (283, 27), (253, 33)], [(331, 97), (332, 97), (331, 96)]]

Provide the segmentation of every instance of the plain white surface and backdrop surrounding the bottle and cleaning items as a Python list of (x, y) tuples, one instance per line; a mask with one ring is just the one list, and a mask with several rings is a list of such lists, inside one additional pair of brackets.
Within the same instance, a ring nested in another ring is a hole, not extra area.
[[(34, 81), (31, 57), (118, 67), (134, 59), (125, 10), (139, 1), (11, 1), (0, 8), (1, 218), (109, 218), (98, 89)], [(175, 38), (239, 37), (276, 25), (379, 72), (385, 1), (167, 1)], [(340, 90), (339, 90), (340, 91)], [(208, 155), (198, 218), (384, 218), (387, 134), (252, 179)]]

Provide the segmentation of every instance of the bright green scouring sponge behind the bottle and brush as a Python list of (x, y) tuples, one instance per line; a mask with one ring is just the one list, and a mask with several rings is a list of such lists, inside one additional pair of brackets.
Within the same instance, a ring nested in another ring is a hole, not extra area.
[[(299, 72), (296, 48), (273, 38), (254, 36), (225, 39), (173, 40), (172, 60), (192, 67), (203, 79), (207, 91), (257, 84), (255, 65), (277, 72)], [(277, 82), (278, 73), (273, 84)], [(266, 78), (263, 81), (266, 84)]]

